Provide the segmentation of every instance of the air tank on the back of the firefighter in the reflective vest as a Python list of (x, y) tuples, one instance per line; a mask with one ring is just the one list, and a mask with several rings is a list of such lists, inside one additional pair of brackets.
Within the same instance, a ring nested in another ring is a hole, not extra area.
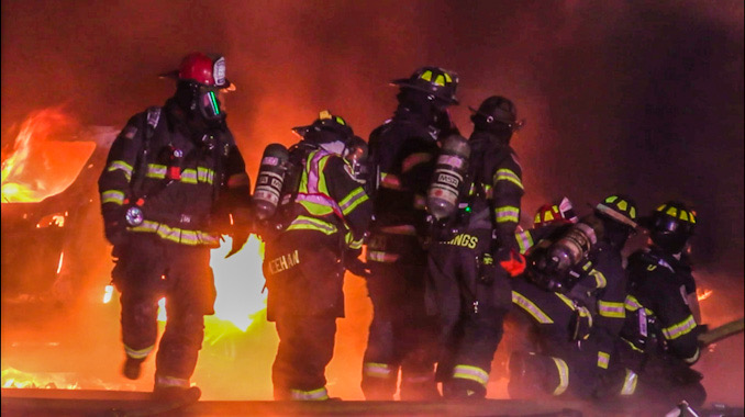
[(287, 148), (280, 144), (270, 144), (264, 149), (252, 199), (260, 221), (271, 217), (277, 210), (289, 157)]

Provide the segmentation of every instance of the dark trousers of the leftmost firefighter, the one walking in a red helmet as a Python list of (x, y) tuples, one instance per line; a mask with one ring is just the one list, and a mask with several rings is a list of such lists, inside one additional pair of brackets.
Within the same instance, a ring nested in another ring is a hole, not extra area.
[(204, 338), (204, 315), (214, 313), (210, 248), (135, 235), (115, 256), (112, 278), (121, 292), (126, 354), (145, 359), (154, 350), (158, 300), (165, 297), (167, 322), (156, 353), (155, 384), (188, 387)]

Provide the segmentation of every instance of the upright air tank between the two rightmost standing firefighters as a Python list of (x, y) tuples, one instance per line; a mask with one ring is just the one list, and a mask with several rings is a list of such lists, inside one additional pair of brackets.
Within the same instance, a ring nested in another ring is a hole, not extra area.
[(437, 221), (453, 215), (458, 206), (469, 156), (470, 146), (465, 137), (451, 135), (443, 143), (426, 193), (427, 211)]

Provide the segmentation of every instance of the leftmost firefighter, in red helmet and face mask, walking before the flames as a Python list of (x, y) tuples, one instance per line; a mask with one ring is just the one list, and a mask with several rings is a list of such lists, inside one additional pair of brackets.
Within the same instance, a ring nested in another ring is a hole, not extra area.
[(231, 88), (225, 59), (192, 53), (164, 76), (176, 78), (175, 94), (130, 119), (98, 185), (113, 245), (112, 281), (121, 292), (124, 376), (137, 379), (154, 350), (158, 300), (165, 297), (168, 323), (154, 393), (170, 396), (190, 390), (203, 316), (214, 314), (210, 250), (222, 233), (234, 234), (238, 246), (245, 241), (247, 232), (224, 229), (222, 219), (248, 218), (251, 184), (222, 109)]

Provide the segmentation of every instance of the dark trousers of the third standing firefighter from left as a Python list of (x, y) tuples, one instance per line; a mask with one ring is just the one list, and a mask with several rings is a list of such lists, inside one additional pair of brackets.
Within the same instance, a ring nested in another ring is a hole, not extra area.
[(434, 380), (436, 322), (424, 304), (426, 255), (415, 236), (376, 235), (368, 245), (372, 320), (363, 358), (367, 399), (440, 397)]

